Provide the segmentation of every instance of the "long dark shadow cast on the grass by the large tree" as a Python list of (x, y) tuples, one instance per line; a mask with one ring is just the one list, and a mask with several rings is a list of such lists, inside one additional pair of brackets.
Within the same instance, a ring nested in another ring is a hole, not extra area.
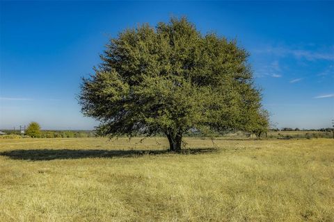
[[(213, 153), (214, 148), (189, 148), (182, 150), (180, 155), (194, 155), (200, 153)], [(3, 151), (0, 155), (10, 157), (13, 160), (63, 160), (81, 158), (113, 158), (113, 157), (140, 157), (142, 155), (173, 154), (167, 150), (97, 150), (97, 149), (24, 149)]]

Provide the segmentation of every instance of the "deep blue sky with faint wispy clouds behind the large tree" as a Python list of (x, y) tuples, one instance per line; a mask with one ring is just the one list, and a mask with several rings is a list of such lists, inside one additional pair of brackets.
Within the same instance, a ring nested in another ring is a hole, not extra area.
[(334, 119), (334, 2), (1, 1), (0, 128), (92, 129), (75, 99), (109, 37), (185, 15), (250, 52), (277, 127)]

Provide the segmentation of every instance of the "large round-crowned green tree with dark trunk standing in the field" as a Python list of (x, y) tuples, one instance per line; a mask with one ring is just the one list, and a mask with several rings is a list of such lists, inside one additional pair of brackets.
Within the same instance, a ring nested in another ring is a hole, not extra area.
[(248, 53), (186, 18), (122, 31), (101, 58), (79, 95), (100, 135), (164, 133), (170, 151), (180, 151), (186, 131), (243, 130), (261, 110)]

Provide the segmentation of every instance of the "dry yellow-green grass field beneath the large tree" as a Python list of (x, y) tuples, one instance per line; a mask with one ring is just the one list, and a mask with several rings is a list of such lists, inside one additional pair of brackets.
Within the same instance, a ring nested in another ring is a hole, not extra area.
[(140, 140), (1, 139), (0, 221), (334, 221), (334, 139)]

